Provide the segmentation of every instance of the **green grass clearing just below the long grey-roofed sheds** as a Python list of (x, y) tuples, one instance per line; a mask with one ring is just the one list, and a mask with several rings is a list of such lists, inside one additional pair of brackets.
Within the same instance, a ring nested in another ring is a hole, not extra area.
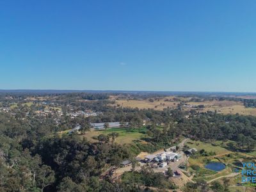
[(141, 127), (138, 129), (121, 129), (121, 128), (111, 128), (106, 131), (89, 131), (86, 132), (83, 136), (85, 136), (90, 141), (96, 141), (93, 139), (95, 136), (99, 136), (100, 134), (109, 134), (111, 132), (118, 132), (119, 136), (116, 138), (116, 143), (126, 144), (132, 143), (134, 140), (140, 140), (141, 138), (147, 136), (147, 129), (145, 127)]

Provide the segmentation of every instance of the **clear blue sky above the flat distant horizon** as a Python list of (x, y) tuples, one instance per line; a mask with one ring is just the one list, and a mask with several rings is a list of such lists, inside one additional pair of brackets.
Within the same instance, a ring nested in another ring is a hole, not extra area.
[(256, 1), (0, 1), (0, 89), (256, 92)]

